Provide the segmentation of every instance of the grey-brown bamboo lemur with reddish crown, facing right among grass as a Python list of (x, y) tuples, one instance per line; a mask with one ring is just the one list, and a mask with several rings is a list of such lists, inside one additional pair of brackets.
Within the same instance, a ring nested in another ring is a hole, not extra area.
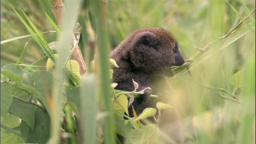
[[(145, 92), (143, 98), (135, 98), (132, 106), (136, 114), (141, 114), (148, 107), (156, 108), (157, 102), (175, 106), (171, 102), (170, 83), (166, 76), (174, 76), (171, 66), (181, 66), (184, 64), (184, 58), (180, 55), (177, 41), (170, 32), (162, 28), (141, 28), (122, 41), (110, 56), (119, 66), (112, 67), (112, 81), (118, 84), (115, 89), (134, 90), (132, 79), (139, 84), (137, 91), (151, 88), (151, 91)], [(159, 97), (150, 98), (150, 94)], [(131, 106), (128, 111), (129, 116), (134, 117)], [(161, 115), (160, 130), (176, 143), (182, 144), (184, 140), (177, 110), (166, 109)], [(161, 140), (164, 144), (170, 143), (164, 138)]]

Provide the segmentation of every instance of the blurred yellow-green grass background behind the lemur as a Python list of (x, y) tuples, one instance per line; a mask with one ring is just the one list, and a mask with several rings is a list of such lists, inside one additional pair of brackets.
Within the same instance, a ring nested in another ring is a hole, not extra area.
[[(54, 30), (37, 0), (9, 0), (16, 10), (23, 10), (41, 32)], [(7, 0), (1, 0), (1, 41), (28, 35)], [(65, 1), (64, 1), (65, 2)], [(228, 0), (245, 18), (245, 7), (251, 12), (255, 0)], [(93, 40), (94, 20), (91, 7), (83, 2), (78, 22), (82, 25), (80, 49), (88, 64), (86, 51)], [(255, 20), (255, 12), (252, 14)], [(109, 0), (106, 14), (108, 40), (114, 49), (134, 30), (142, 27), (161, 27), (178, 40), (179, 50), (187, 60), (198, 50), (227, 34), (239, 16), (225, 0)], [(88, 23), (92, 24), (92, 28)], [(251, 23), (248, 20), (248, 23)], [(238, 28), (241, 28), (241, 24)], [(236, 144), (247, 137), (255, 137), (255, 21), (254, 33), (248, 31), (236, 41), (224, 46), (225, 40), (215, 44), (190, 66), (194, 77), (206, 86), (223, 88), (238, 96), (243, 105), (224, 100), (196, 83), (186, 70), (171, 78), (180, 110), (187, 143)], [(44, 34), (48, 43), (56, 41), (56, 33)], [(1, 68), (16, 63), (24, 50), (24, 64), (31, 64), (43, 56), (38, 44), (24, 38), (1, 44)], [(245, 70), (244, 88), (235, 88), (231, 76)], [(247, 86), (247, 87), (246, 87)], [(225, 95), (228, 97), (228, 95)], [(249, 120), (249, 122), (247, 121)], [(254, 120), (254, 124), (250, 123)], [(248, 125), (246, 125), (248, 124)], [(193, 128), (192, 128), (193, 127)], [(248, 128), (249, 129), (246, 129)], [(254, 129), (253, 129), (254, 128)], [(250, 136), (245, 136), (245, 135)], [(247, 142), (247, 141), (243, 141)], [(253, 141), (251, 141), (253, 142)]]

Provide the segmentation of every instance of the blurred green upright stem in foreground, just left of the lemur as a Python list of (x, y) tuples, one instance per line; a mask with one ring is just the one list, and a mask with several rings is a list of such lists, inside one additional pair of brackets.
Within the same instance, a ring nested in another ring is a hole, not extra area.
[(92, 12), (96, 22), (96, 32), (98, 39), (98, 76), (100, 83), (100, 98), (104, 100), (103, 110), (107, 116), (104, 117), (104, 138), (106, 144), (114, 144), (114, 124), (113, 124), (113, 108), (110, 94), (110, 78), (109, 78), (109, 48), (108, 37), (106, 33), (106, 25), (102, 20), (102, 9), (99, 0), (91, 0)]

